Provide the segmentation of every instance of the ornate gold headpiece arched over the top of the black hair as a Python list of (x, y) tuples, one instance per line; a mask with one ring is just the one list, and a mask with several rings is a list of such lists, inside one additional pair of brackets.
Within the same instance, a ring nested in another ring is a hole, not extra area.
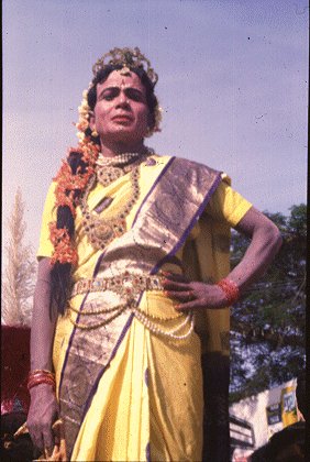
[(142, 68), (147, 74), (153, 87), (158, 80), (157, 74), (151, 66), (150, 61), (141, 53), (137, 48), (113, 48), (109, 53), (106, 53), (97, 63), (92, 66), (92, 73), (96, 76), (99, 70), (103, 69), (108, 65), (122, 65), (123, 72), (129, 72), (134, 68)]

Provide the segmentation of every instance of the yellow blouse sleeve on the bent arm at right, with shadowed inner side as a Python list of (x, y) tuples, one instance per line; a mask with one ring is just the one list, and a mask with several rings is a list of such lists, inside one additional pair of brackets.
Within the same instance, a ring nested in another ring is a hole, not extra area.
[(235, 227), (252, 204), (236, 193), (225, 180), (221, 182), (206, 207), (206, 213), (217, 221), (225, 221)]

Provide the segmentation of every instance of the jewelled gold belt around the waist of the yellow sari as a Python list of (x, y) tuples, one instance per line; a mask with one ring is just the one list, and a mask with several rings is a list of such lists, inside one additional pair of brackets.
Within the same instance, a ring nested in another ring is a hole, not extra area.
[(74, 285), (70, 298), (88, 292), (111, 290), (125, 299), (132, 299), (144, 290), (164, 290), (164, 278), (163, 275), (151, 276), (125, 272), (114, 277), (80, 279)]

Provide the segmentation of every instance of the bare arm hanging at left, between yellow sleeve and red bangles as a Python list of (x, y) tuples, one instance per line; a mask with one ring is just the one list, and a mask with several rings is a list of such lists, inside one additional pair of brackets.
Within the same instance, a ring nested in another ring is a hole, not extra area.
[(52, 353), (57, 312), (49, 309), (51, 265), (44, 258), (38, 263), (37, 282), (34, 293), (31, 327), (31, 370), (52, 371)]

